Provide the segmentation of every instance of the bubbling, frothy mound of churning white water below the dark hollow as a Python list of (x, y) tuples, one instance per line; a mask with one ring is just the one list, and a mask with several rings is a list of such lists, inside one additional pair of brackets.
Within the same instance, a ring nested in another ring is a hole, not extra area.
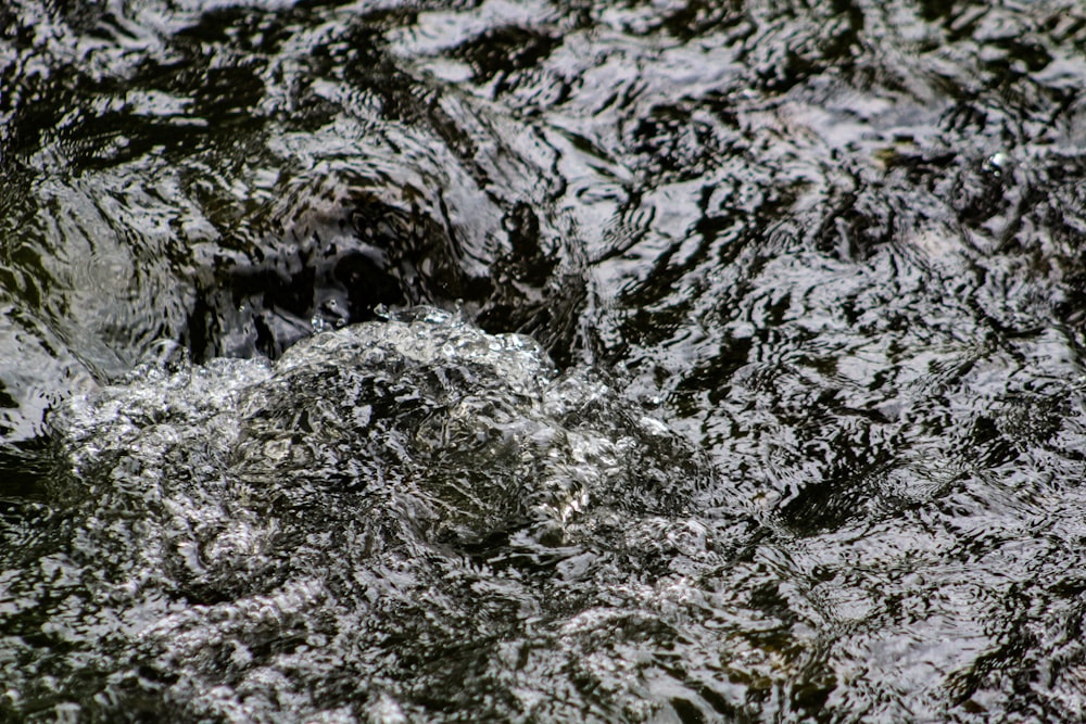
[(64, 597), (40, 628), (91, 717), (641, 717), (689, 685), (686, 581), (733, 546), (660, 422), (437, 310), (142, 367), (55, 425), (66, 542), (16, 586)]

